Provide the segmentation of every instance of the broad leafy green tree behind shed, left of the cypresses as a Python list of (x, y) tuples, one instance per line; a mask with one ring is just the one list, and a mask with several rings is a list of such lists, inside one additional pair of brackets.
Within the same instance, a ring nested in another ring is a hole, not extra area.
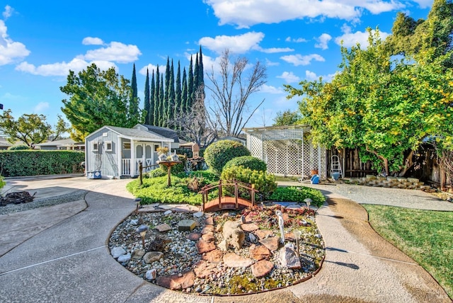
[(76, 141), (83, 141), (104, 125), (132, 127), (141, 121), (141, 113), (130, 110), (134, 102), (130, 102), (129, 80), (113, 67), (101, 71), (91, 64), (79, 74), (69, 71), (67, 84), (60, 91), (69, 96), (62, 101), (62, 112), (71, 122), (71, 137)]

